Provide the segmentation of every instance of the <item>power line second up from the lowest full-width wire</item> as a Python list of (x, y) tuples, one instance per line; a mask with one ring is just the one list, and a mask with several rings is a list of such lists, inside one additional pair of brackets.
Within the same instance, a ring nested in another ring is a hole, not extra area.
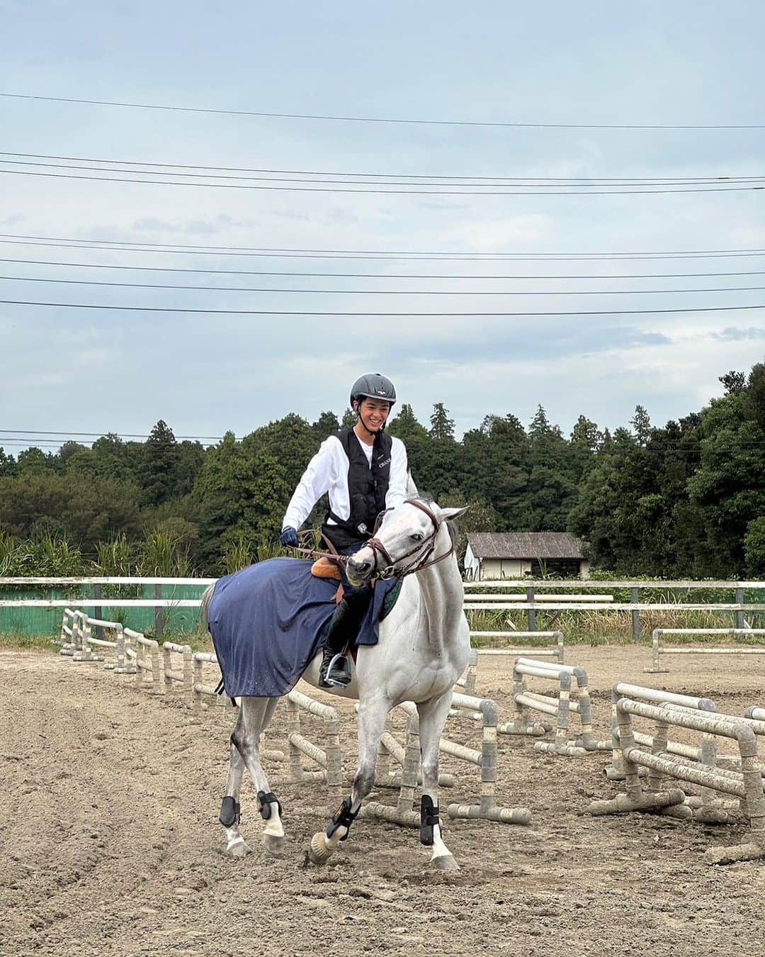
[(106, 282), (94, 279), (55, 279), (37, 276), (0, 276), (10, 282), (53, 282), (61, 285), (111, 286), (126, 289), (188, 289), (194, 292), (317, 293), (346, 296), (645, 296), (657, 293), (761, 292), (765, 286), (717, 286), (702, 289), (280, 289), (278, 286), (184, 286), (162, 282)]

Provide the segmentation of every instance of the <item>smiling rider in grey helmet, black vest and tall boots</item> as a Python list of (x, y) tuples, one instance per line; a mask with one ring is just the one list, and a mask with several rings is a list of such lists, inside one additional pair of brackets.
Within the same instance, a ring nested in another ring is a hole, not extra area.
[[(351, 389), (351, 406), (359, 416), (352, 429), (326, 438), (308, 463), (282, 522), (282, 545), (297, 545), (297, 529), (325, 492), (329, 512), (323, 535), (340, 555), (353, 555), (372, 537), (377, 516), (406, 498), (404, 442), (385, 433), (396, 402), (396, 388), (379, 372), (362, 375)], [(356, 637), (372, 597), (370, 585), (355, 588), (340, 568), (343, 597), (330, 622), (319, 685), (342, 687), (351, 679), (344, 657)]]

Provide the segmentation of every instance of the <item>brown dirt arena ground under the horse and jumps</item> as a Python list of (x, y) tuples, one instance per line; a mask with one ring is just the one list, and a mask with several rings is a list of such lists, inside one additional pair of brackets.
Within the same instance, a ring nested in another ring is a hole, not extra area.
[[(600, 737), (614, 680), (706, 695), (739, 715), (765, 705), (765, 657), (673, 657), (659, 676), (643, 673), (645, 647), (567, 657), (588, 671)], [(477, 693), (503, 720), (512, 662), (479, 665)], [(285, 854), (261, 849), (246, 779), (253, 853), (232, 860), (216, 823), (232, 708), (197, 715), (54, 653), (3, 652), (0, 682), (3, 954), (765, 954), (765, 860), (704, 863), (710, 845), (736, 842), (734, 827), (587, 816), (591, 799), (617, 789), (605, 754), (559, 758), (500, 737), (498, 798), (529, 807), (533, 823), (448, 822), (453, 874), (428, 870), (416, 832), (365, 820), (328, 866), (306, 867), (307, 840), (327, 818), (323, 785), (277, 784), (284, 772), (272, 766)], [(350, 774), (355, 725), (339, 708)], [(286, 749), (285, 728), (280, 706), (268, 746)], [(472, 724), (448, 733), (479, 747)], [(477, 798), (476, 768), (444, 758), (442, 770), (458, 778), (442, 808)]]

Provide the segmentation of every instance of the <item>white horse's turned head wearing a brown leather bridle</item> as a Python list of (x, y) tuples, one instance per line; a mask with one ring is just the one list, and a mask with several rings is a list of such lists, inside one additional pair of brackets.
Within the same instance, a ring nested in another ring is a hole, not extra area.
[[(411, 498), (383, 515), (377, 534), (345, 566), (348, 581), (359, 587), (373, 578), (400, 578), (429, 563), (442, 526), (467, 508), (441, 508), (434, 501)], [(451, 549), (432, 556), (446, 557)]]

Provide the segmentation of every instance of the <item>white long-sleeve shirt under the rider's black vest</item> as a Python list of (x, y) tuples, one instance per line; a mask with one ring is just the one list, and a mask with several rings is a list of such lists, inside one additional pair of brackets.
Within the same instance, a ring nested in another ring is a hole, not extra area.
[[(404, 442), (400, 438), (391, 437), (390, 476), (385, 495), (385, 508), (393, 508), (401, 504), (409, 494)], [(354, 439), (359, 442), (368, 457), (372, 446), (365, 447), (356, 435)], [(325, 438), (317, 454), (308, 463), (302, 479), (297, 483), (295, 494), (284, 513), (282, 528), (299, 528), (325, 492), (329, 493), (329, 505), (332, 511), (340, 519), (347, 521), (351, 517), (351, 501), (348, 494), (349, 466), (348, 456), (345, 455), (338, 436), (330, 435), (329, 438)], [(331, 519), (329, 521), (333, 523)]]

